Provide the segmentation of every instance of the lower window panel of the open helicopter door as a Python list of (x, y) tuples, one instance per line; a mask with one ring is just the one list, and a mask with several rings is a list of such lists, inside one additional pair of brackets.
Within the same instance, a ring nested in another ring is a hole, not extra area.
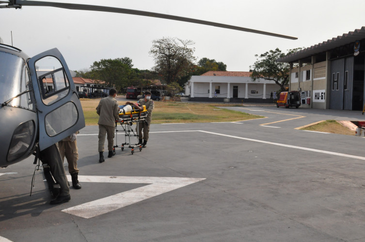
[(67, 102), (45, 117), (46, 132), (48, 136), (55, 136), (66, 129), (74, 126), (78, 120), (79, 113), (73, 102)]

